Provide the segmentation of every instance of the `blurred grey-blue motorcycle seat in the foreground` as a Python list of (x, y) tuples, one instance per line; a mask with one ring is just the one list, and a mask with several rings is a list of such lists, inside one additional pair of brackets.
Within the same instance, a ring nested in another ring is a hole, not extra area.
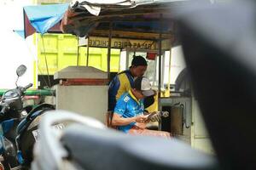
[(74, 124), (64, 130), (61, 144), (71, 161), (90, 170), (218, 169), (214, 156), (193, 150), (177, 139), (131, 136)]

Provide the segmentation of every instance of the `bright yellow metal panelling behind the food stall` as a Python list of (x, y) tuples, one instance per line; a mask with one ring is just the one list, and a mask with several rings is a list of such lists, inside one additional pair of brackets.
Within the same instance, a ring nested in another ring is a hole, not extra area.
[[(41, 36), (38, 36), (38, 74), (46, 75), (47, 69), (44, 54), (47, 58), (49, 75), (69, 66), (78, 65), (78, 39), (70, 34), (45, 34), (44, 45)], [(45, 51), (44, 51), (45, 50)], [(79, 48), (79, 65), (86, 65), (86, 47)], [(110, 71), (119, 71), (119, 49), (111, 50)], [(89, 66), (107, 71), (107, 48), (90, 48)]]

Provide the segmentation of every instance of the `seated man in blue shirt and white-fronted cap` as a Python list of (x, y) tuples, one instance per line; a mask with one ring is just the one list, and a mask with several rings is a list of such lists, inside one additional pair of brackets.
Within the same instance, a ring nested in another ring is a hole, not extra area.
[(170, 133), (146, 129), (148, 115), (144, 115), (143, 99), (154, 95), (150, 82), (146, 77), (137, 77), (131, 90), (123, 94), (113, 111), (113, 126), (131, 134), (143, 134), (170, 138)]

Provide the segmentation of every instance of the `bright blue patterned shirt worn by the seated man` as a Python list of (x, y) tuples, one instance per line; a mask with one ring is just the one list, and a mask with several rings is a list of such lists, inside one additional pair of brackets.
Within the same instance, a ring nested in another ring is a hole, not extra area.
[[(118, 99), (113, 112), (124, 118), (141, 115), (144, 112), (143, 99), (137, 101), (131, 97), (130, 93), (125, 93)], [(119, 126), (118, 129), (128, 133), (134, 124), (135, 122), (132, 122), (129, 125)]]

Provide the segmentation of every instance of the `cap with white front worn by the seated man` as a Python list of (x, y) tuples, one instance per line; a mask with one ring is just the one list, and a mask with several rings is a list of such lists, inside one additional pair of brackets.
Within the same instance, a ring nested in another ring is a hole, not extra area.
[(137, 77), (137, 79), (134, 81), (133, 88), (142, 91), (144, 96), (154, 95), (154, 90), (152, 90), (151, 84), (146, 77)]

